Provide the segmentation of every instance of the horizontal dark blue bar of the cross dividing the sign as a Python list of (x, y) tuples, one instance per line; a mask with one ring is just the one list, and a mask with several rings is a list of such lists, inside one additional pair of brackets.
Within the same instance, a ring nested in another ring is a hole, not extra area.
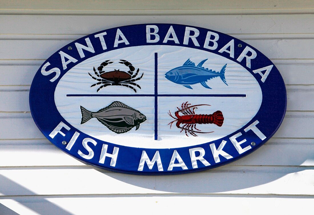
[[(156, 96), (154, 94), (67, 94), (73, 96), (104, 96), (104, 97), (123, 97), (123, 96)], [(160, 97), (246, 97), (246, 94), (158, 94)]]

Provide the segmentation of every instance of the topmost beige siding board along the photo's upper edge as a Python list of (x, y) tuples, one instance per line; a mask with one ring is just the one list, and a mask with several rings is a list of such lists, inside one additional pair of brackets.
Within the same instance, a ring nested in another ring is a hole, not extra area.
[(204, 2), (202, 0), (194, 0), (193, 2), (188, 0), (181, 0), (178, 4), (176, 1), (160, 0), (154, 1), (143, 1), (143, 0), (129, 0), (128, 4), (123, 4), (123, 1), (114, 0), (94, 0), (91, 2), (82, 2), (80, 0), (62, 1), (55, 0), (53, 2), (49, 0), (33, 0), (31, 4), (29, 1), (10, 1), (2, 0), (3, 9), (19, 9), (19, 10), (199, 10), (199, 9), (295, 9), (295, 8), (314, 8), (314, 3), (311, 0), (304, 0), (302, 4), (293, 1), (284, 0), (265, 0), (250, 1), (250, 0), (221, 0), (217, 2)]

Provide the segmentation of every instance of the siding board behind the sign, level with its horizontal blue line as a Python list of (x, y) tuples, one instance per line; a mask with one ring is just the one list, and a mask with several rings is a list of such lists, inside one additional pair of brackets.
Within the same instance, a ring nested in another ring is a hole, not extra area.
[[(313, 80), (314, 82), (314, 80)], [(29, 107), (29, 86), (0, 86), (0, 111), (27, 112)], [(314, 85), (287, 86), (287, 110), (314, 111)]]

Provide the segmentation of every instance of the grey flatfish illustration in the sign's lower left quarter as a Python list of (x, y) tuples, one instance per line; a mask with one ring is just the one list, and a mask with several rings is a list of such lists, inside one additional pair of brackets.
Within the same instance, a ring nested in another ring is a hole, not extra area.
[(146, 116), (138, 110), (119, 101), (114, 101), (105, 108), (92, 112), (81, 106), (81, 124), (96, 118), (103, 125), (117, 134), (130, 131), (133, 127), (138, 130), (140, 124), (146, 120)]

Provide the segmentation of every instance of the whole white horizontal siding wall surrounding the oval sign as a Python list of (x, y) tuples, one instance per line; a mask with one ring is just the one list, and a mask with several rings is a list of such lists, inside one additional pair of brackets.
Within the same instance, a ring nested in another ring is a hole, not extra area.
[[(313, 213), (313, 13), (313, 1), (0, 0), (0, 215)], [(137, 23), (200, 26), (262, 51), (286, 83), (279, 131), (239, 161), (187, 175), (113, 173), (58, 150), (30, 115), (37, 69), (72, 40)]]

